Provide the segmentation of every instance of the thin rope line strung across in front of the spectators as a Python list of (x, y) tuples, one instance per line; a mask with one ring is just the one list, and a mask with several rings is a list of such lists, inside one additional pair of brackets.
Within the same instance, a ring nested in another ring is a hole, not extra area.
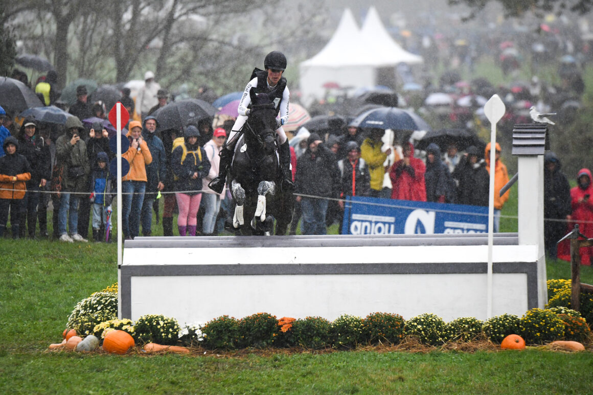
[[(9, 188), (0, 188), (0, 190), (13, 190), (13, 189), (9, 189)], [(61, 192), (55, 192), (55, 191), (51, 191), (51, 190), (36, 190), (33, 192), (39, 192), (39, 193), (48, 193), (48, 194), (57, 194), (57, 193), (68, 193), (69, 195), (90, 195), (91, 192), (68, 192), (68, 191), (61, 191)], [(171, 195), (174, 193), (206, 193), (207, 191), (204, 189), (199, 189), (199, 190), (178, 190), (178, 191), (161, 191), (161, 195)], [(122, 192), (122, 195), (157, 195), (158, 192), (145, 192), (145, 193), (139, 193), (139, 192)], [(116, 192), (112, 192), (112, 195), (115, 195)], [(101, 194), (102, 195), (102, 194)], [(402, 206), (402, 205), (398, 205), (397, 203), (395, 204), (388, 204), (388, 203), (380, 203), (380, 202), (347, 202), (346, 199), (340, 199), (340, 198), (327, 198), (326, 196), (316, 196), (316, 195), (307, 195), (305, 193), (293, 193), (292, 195), (294, 196), (301, 196), (303, 198), (312, 198), (312, 199), (325, 199), (325, 200), (330, 200), (333, 202), (344, 202), (346, 204), (349, 205), (367, 205), (367, 206), (380, 206), (380, 207), (388, 207), (388, 208), (400, 208), (400, 209), (418, 209), (421, 208), (419, 206)], [(425, 208), (423, 208), (425, 209)], [(477, 212), (464, 212), (464, 211), (458, 211), (458, 210), (447, 210), (447, 209), (431, 209), (431, 211), (434, 212), (442, 212), (445, 214), (463, 214), (463, 215), (476, 215), (476, 216), (488, 216), (488, 214), (480, 214)], [(519, 217), (517, 215), (500, 215), (500, 218), (509, 218), (509, 219), (518, 219)], [(568, 220), (568, 219), (557, 219), (557, 218), (544, 218), (544, 221), (547, 222), (567, 222), (567, 223), (579, 223), (579, 224), (593, 224), (593, 221), (576, 221), (576, 220)]]

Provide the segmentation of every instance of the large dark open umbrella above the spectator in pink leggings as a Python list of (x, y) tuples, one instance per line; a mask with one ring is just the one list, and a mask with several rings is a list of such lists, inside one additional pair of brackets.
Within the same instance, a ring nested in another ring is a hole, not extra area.
[(174, 101), (161, 107), (154, 113), (158, 122), (158, 130), (181, 129), (187, 125), (197, 125), (202, 119), (211, 118), (216, 109), (211, 104), (199, 99), (185, 99)]

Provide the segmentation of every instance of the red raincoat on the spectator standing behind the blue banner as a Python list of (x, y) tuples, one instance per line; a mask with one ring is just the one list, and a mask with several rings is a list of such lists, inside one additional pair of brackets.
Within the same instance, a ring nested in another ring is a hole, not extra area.
[(391, 199), (416, 200), (417, 202), (426, 202), (426, 185), (424, 173), (426, 166), (424, 162), (414, 157), (414, 146), (410, 145), (410, 165), (406, 166), (404, 160), (398, 160), (393, 164), (389, 171), (389, 177), (393, 189), (391, 190)]

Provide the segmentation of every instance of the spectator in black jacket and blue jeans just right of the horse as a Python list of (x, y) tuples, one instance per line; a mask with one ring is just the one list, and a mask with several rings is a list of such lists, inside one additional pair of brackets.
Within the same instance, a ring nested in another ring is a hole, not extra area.
[(298, 158), (295, 176), (296, 200), (302, 210), (301, 234), (327, 234), (327, 206), (329, 198), (340, 196), (340, 171), (336, 155), (317, 133), (309, 135), (307, 144), (307, 151)]

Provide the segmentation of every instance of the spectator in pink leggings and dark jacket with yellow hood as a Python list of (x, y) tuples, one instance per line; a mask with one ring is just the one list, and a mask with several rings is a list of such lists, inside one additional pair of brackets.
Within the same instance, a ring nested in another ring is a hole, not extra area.
[(197, 211), (202, 200), (202, 179), (210, 171), (210, 161), (206, 152), (198, 144), (200, 136), (196, 126), (189, 125), (184, 130), (183, 139), (174, 142), (171, 154), (171, 168), (174, 175), (174, 189), (177, 191), (177, 229), (180, 236), (195, 236)]

